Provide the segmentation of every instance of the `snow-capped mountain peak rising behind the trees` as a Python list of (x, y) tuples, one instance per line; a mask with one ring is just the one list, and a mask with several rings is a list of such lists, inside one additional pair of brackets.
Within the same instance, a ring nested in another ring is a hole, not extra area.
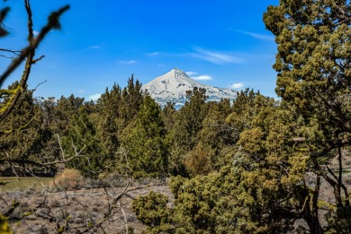
[(186, 101), (186, 91), (193, 91), (193, 87), (206, 89), (208, 101), (220, 101), (220, 99), (234, 100), (236, 91), (212, 87), (196, 82), (182, 70), (175, 68), (161, 75), (151, 82), (142, 86), (143, 91), (148, 91), (150, 96), (161, 106), (166, 102), (175, 102), (175, 106), (183, 106)]

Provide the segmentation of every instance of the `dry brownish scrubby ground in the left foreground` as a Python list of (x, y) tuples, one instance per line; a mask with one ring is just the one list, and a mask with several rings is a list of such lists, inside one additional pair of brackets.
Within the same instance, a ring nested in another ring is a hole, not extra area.
[[(9, 216), (14, 233), (58, 233), (65, 229), (67, 233), (126, 233), (127, 227), (140, 233), (146, 226), (132, 212), (132, 200), (150, 191), (168, 196), (171, 193), (168, 186), (130, 188), (136, 190), (123, 195), (116, 204), (112, 204), (112, 199), (121, 194), (123, 187), (56, 193), (7, 192), (0, 195), (0, 210), (14, 209)], [(106, 219), (109, 207), (113, 208), (112, 215)], [(100, 228), (94, 227), (102, 221)]]

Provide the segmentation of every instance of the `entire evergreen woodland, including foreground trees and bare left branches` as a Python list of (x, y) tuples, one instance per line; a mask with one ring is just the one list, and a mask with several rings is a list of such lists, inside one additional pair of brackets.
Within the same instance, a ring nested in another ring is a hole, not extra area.
[[(246, 89), (232, 102), (211, 102), (195, 88), (179, 109), (161, 108), (132, 74), (96, 102), (34, 98), (27, 81), (40, 62), (35, 49), (67, 9), (52, 13), (36, 37), (28, 24), (29, 46), (0, 77), (1, 176), (77, 169), (92, 179), (156, 178), (174, 200), (169, 206), (166, 195), (150, 192), (133, 201), (146, 233), (351, 233), (349, 1), (267, 8), (280, 100)], [(1, 37), (9, 10), (1, 10)], [(2, 87), (23, 61), (22, 79)]]

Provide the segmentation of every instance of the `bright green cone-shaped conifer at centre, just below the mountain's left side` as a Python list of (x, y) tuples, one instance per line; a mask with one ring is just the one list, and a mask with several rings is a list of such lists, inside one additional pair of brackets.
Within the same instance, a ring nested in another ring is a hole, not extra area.
[(134, 178), (165, 178), (168, 168), (166, 131), (161, 108), (145, 96), (135, 123), (125, 130), (122, 146), (128, 152), (127, 161)]

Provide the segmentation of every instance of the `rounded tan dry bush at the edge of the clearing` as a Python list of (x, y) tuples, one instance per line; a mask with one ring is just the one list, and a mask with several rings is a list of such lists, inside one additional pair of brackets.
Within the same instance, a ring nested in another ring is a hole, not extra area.
[(54, 185), (58, 191), (80, 189), (84, 185), (84, 178), (77, 169), (64, 169), (54, 178)]

